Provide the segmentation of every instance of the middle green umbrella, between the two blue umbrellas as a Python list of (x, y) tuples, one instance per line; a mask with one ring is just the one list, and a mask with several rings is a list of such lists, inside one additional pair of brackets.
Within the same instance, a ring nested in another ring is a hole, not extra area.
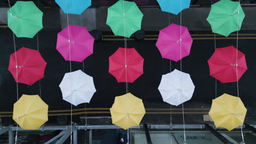
[(130, 38), (141, 29), (143, 14), (135, 2), (119, 0), (108, 8), (107, 25), (115, 35)]

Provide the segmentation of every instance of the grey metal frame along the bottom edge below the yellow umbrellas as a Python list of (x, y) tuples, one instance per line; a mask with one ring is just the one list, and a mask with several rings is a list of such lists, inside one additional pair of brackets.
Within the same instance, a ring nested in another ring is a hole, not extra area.
[[(248, 128), (248, 125), (246, 124), (246, 128)], [(251, 126), (252, 128), (254, 128), (256, 125)], [(250, 128), (251, 128), (250, 127)], [(138, 125), (135, 127), (131, 127), (130, 129), (141, 129), (143, 130), (143, 125)], [(147, 128), (148, 129), (183, 129), (183, 124), (147, 124)], [(211, 127), (208, 124), (185, 124), (185, 129), (211, 129), (211, 133), (215, 133), (214, 131), (216, 131), (215, 127)], [(245, 127), (243, 127), (245, 128)], [(0, 126), (0, 135), (6, 133), (7, 131), (9, 131), (9, 144), (13, 144), (14, 143), (14, 131), (16, 131), (16, 129), (18, 129), (18, 131), (55, 131), (55, 130), (62, 130), (60, 132), (59, 135), (56, 135), (55, 137), (53, 137), (53, 139), (49, 140), (48, 142), (46, 142), (46, 144), (58, 139), (59, 137), (61, 137), (58, 141), (57, 144), (61, 144), (63, 143), (71, 134), (71, 125), (49, 125), (49, 126), (42, 126), (37, 130), (30, 130), (30, 129), (22, 129), (20, 127), (15, 127), (13, 125), (10, 126)], [(92, 130), (94, 129), (122, 129), (120, 127), (118, 127), (117, 125), (77, 125), (74, 124), (72, 126), (72, 133), (73, 133), (73, 144), (77, 144), (78, 143), (78, 130), (90, 130), (89, 131), (89, 143), (92, 143)], [(221, 129), (221, 128), (218, 128)], [(255, 129), (255, 128), (254, 128)], [(250, 129), (251, 130), (251, 129)], [(147, 131), (145, 129), (145, 131)], [(218, 133), (218, 132), (217, 132)], [(219, 136), (217, 136), (218, 139), (222, 139)], [(226, 139), (224, 137), (224, 139)]]

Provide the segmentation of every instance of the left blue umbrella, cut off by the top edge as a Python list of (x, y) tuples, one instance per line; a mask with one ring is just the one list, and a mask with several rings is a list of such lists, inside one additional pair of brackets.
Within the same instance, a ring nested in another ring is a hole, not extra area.
[[(91, 0), (56, 0), (64, 13), (80, 15), (91, 6)], [(66, 7), (67, 6), (67, 7)]]

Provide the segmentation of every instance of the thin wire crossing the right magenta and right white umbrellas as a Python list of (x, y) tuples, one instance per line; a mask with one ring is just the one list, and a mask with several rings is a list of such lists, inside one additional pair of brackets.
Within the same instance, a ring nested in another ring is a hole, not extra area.
[[(181, 0), (181, 26), (180, 26), (180, 35), (179, 35), (179, 47), (180, 47), (180, 56), (181, 56), (181, 72), (182, 72), (182, 0)], [(181, 74), (181, 89), (182, 89), (182, 74)], [(185, 132), (185, 118), (184, 118), (184, 108), (182, 103), (182, 116), (183, 116), (183, 130), (184, 130), (184, 144), (187, 143), (186, 141), (186, 132)]]

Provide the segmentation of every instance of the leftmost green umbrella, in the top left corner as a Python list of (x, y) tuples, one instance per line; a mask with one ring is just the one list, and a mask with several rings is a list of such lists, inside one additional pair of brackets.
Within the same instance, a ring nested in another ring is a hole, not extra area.
[(43, 12), (31, 1), (16, 2), (7, 15), (8, 27), (18, 38), (33, 38), (43, 28)]

